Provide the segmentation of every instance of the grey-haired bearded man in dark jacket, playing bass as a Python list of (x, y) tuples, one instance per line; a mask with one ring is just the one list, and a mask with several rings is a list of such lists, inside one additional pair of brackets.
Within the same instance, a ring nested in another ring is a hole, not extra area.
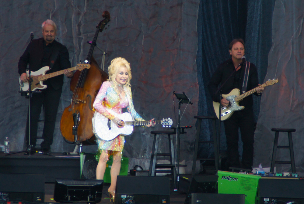
[[(22, 82), (27, 82), (29, 77), (26, 74), (26, 67), (29, 64), (30, 70), (35, 72), (44, 66), (49, 66), (50, 70), (46, 72), (53, 73), (59, 70), (65, 70), (71, 67), (69, 61), (68, 49), (61, 43), (55, 40), (57, 26), (51, 20), (46, 20), (42, 23), (43, 38), (35, 39), (27, 46), (18, 63), (18, 72)], [(72, 77), (73, 72), (65, 70), (64, 74), (67, 77)], [(33, 93), (30, 106), (30, 145), (32, 148), (36, 145), (37, 126), (41, 112), (41, 107), (44, 107), (44, 128), (43, 142), (41, 148), (45, 153), (50, 153), (51, 144), (53, 143), (53, 134), (59, 100), (61, 97), (63, 75), (52, 77), (44, 84), (47, 88), (41, 90), (41, 93)], [(28, 145), (29, 121), (26, 125), (26, 143)]]

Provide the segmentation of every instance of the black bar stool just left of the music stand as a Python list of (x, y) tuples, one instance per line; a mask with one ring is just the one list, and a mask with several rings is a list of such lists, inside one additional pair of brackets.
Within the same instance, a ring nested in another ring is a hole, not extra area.
[[(176, 188), (176, 168), (175, 168), (175, 156), (174, 156), (174, 144), (173, 144), (173, 134), (174, 131), (151, 131), (151, 134), (154, 134), (154, 140), (152, 145), (152, 154), (149, 168), (149, 176), (155, 176), (156, 173), (171, 173), (173, 175), (173, 185)], [(168, 135), (169, 141), (169, 153), (157, 153), (158, 142), (160, 135)], [(157, 156), (169, 156), (169, 164), (156, 164)], [(171, 168), (171, 170), (156, 170), (157, 168)]]

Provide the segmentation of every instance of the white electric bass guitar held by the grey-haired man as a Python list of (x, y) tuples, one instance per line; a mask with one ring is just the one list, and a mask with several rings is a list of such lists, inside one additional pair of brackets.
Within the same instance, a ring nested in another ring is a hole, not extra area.
[[(83, 70), (83, 69), (89, 69), (91, 67), (90, 64), (77, 64), (77, 66), (65, 69), (65, 70)], [(37, 89), (46, 89), (47, 85), (44, 85), (42, 82), (52, 78), (57, 77), (64, 73), (65, 70), (60, 70), (57, 72), (45, 74), (48, 70), (50, 70), (50, 67), (44, 66), (40, 70), (36, 72), (31, 71), (31, 91), (35, 91)], [(29, 77), (29, 71), (26, 71), (26, 76)], [(22, 82), (21, 77), (19, 77), (19, 85), (20, 85), (20, 91), (28, 91), (29, 90), (29, 83), (28, 82)]]

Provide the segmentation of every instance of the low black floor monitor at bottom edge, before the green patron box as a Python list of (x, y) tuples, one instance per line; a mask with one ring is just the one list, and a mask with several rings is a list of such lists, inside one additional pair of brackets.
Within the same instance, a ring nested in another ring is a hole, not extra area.
[(190, 204), (245, 204), (244, 194), (192, 193)]

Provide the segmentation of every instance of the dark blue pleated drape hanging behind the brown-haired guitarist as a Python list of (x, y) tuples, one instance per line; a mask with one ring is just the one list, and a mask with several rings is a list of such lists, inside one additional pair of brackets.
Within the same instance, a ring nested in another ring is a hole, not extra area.
[[(198, 51), (197, 79), (199, 83), (198, 115), (214, 115), (207, 84), (217, 66), (231, 58), (228, 45), (235, 38), (245, 41), (246, 60), (257, 65), (259, 82), (263, 82), (271, 47), (271, 19), (274, 0), (206, 1), (201, 0), (197, 21)], [(200, 38), (201, 36), (201, 38)], [(262, 46), (263, 45), (263, 46)], [(254, 115), (257, 121), (260, 98), (254, 97)], [(217, 131), (219, 125), (217, 123)], [(212, 135), (211, 121), (202, 121), (200, 140)], [(211, 138), (212, 140), (212, 138)], [(220, 152), (225, 154), (226, 138), (221, 126)], [(242, 151), (242, 148), (239, 149)], [(212, 145), (200, 145), (199, 156), (213, 154)]]

